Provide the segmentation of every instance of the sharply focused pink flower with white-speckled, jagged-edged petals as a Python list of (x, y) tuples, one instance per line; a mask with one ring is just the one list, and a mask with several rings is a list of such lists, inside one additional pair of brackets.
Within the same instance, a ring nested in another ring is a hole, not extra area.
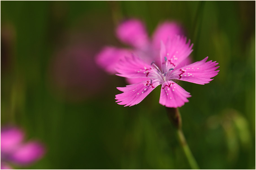
[(117, 74), (126, 78), (141, 78), (145, 81), (117, 89), (123, 93), (116, 95), (117, 104), (133, 106), (140, 103), (154, 88), (161, 85), (159, 103), (170, 108), (181, 107), (188, 102), (190, 93), (179, 86), (175, 79), (188, 81), (196, 84), (209, 83), (210, 79), (216, 76), (219, 70), (218, 63), (207, 61), (194, 62), (179, 68), (180, 62), (185, 60), (192, 52), (190, 40), (186, 43), (185, 37), (174, 36), (168, 39), (167, 43), (161, 42), (160, 61), (161, 70), (152, 62), (148, 64), (143, 59), (132, 55), (132, 58), (125, 57), (117, 64)]

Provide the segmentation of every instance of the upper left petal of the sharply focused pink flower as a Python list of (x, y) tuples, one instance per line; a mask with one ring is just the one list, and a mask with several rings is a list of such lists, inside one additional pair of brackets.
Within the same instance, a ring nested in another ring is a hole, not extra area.
[(132, 57), (125, 57), (124, 60), (120, 60), (117, 64), (116, 71), (120, 74), (116, 74), (126, 78), (150, 78), (157, 79), (157, 71), (151, 67), (141, 58), (132, 54)]

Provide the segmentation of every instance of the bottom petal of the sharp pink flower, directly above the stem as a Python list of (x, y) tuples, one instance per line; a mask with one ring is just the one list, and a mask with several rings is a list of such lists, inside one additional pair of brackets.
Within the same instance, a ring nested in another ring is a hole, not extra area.
[(159, 103), (169, 108), (177, 108), (189, 102), (188, 97), (191, 97), (189, 92), (168, 80), (162, 84)]

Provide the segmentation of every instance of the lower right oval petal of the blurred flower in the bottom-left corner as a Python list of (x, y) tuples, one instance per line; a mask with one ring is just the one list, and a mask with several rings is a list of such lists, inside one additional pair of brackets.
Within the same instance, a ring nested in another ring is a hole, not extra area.
[(40, 159), (45, 153), (43, 145), (36, 141), (27, 142), (17, 149), (11, 156), (10, 160), (16, 164), (30, 164)]

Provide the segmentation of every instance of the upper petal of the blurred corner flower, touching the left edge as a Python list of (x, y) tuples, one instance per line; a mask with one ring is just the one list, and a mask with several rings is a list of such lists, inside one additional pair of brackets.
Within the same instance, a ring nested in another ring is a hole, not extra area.
[(1, 152), (11, 153), (22, 142), (24, 133), (17, 127), (1, 128)]

